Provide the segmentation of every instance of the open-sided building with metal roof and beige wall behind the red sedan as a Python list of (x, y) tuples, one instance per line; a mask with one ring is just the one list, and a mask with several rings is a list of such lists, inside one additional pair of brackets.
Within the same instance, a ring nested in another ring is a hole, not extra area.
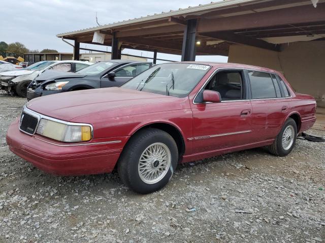
[(325, 2), (225, 0), (57, 34), (80, 43), (182, 55), (228, 56), (230, 62), (281, 71), (291, 85), (325, 107)]

